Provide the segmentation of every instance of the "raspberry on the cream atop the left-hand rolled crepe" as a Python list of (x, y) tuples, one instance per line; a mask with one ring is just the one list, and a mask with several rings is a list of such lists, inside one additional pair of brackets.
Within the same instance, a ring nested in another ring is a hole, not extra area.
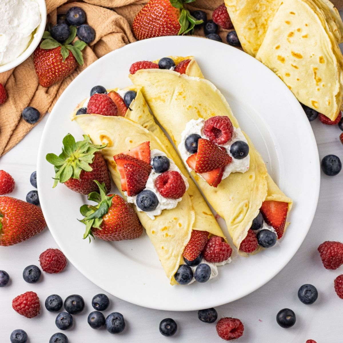
[(181, 174), (176, 170), (165, 171), (155, 180), (158, 192), (165, 198), (178, 199), (186, 192), (186, 184)]

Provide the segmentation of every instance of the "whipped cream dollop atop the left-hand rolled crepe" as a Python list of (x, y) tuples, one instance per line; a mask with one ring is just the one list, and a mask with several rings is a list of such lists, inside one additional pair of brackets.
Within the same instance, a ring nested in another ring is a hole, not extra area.
[[(151, 150), (150, 152), (150, 162), (152, 164), (152, 160), (155, 156), (165, 156), (167, 157), (167, 155), (158, 150), (158, 149), (153, 149)], [(170, 161), (170, 167), (168, 170), (175, 170), (175, 171), (178, 171), (180, 173), (180, 175), (182, 176), (182, 179), (185, 181), (185, 185), (186, 185), (186, 191), (189, 187), (189, 184), (188, 184), (188, 180), (186, 179), (186, 177), (184, 175), (182, 175), (180, 169), (176, 166), (176, 164), (174, 163), (174, 161), (172, 161), (170, 158), (169, 158), (169, 161)], [(157, 188), (155, 187), (155, 180), (157, 179), (157, 177), (161, 175), (161, 173), (156, 173), (154, 171), (154, 169), (151, 169), (151, 173), (149, 175), (149, 178), (148, 180), (146, 181), (146, 185), (145, 185), (145, 188), (144, 190), (150, 190), (152, 192), (154, 192), (156, 194), (156, 197), (158, 199), (158, 205), (156, 206), (155, 210), (153, 211), (148, 211), (148, 212), (145, 212), (146, 215), (151, 218), (151, 219), (155, 219), (155, 216), (157, 215), (160, 215), (162, 210), (171, 210), (171, 209), (174, 209), (176, 206), (177, 206), (177, 203), (180, 202), (182, 200), (182, 197), (181, 198), (178, 198), (178, 199), (170, 199), (170, 198), (165, 198), (163, 197), (157, 190)], [(141, 210), (137, 204), (136, 204), (136, 199), (137, 199), (137, 195), (133, 196), (133, 197), (129, 197), (127, 195), (127, 192), (125, 191), (124, 192), (125, 196), (126, 196), (126, 200), (127, 202), (130, 202), (132, 204), (135, 204), (136, 207), (137, 207), (137, 210), (139, 212), (144, 212), (143, 210)]]

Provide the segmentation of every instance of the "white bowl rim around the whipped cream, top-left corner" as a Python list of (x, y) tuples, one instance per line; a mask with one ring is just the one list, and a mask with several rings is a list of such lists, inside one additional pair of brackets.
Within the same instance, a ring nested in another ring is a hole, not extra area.
[(26, 48), (26, 50), (20, 54), (17, 58), (12, 60), (11, 62), (5, 63), (0, 66), (0, 73), (4, 71), (10, 70), (16, 66), (19, 66), (20, 63), (24, 62), (37, 48), (40, 40), (42, 39), (43, 33), (45, 31), (45, 24), (46, 24), (46, 4), (45, 0), (36, 0), (39, 5), (39, 13), (40, 13), (40, 23), (36, 28), (36, 32), (34, 37), (30, 43), (30, 45)]

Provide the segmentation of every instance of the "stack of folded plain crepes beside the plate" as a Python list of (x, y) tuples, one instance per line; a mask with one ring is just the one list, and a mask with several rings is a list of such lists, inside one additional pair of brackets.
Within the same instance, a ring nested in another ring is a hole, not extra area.
[(241, 46), (300, 103), (335, 120), (342, 108), (343, 23), (328, 0), (225, 0)]

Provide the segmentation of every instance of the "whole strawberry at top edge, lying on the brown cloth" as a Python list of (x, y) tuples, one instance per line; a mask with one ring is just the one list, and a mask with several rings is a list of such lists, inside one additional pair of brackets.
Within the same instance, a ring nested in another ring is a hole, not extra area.
[(192, 31), (202, 20), (194, 18), (184, 3), (195, 0), (150, 0), (138, 12), (132, 23), (132, 31), (138, 39), (159, 36), (183, 35)]

